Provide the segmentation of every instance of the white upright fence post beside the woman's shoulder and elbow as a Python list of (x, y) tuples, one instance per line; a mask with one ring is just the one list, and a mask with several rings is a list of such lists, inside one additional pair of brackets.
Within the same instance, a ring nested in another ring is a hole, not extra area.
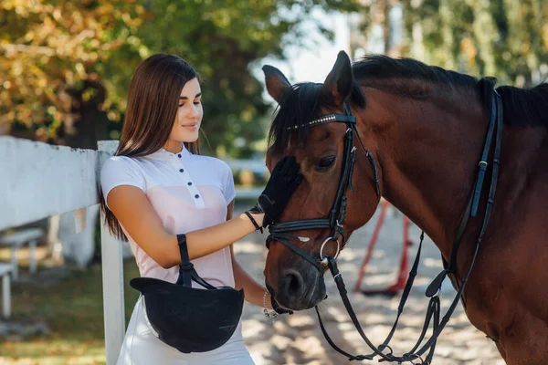
[[(118, 141), (98, 142), (99, 168), (113, 154), (117, 144)], [(103, 224), (102, 212), (100, 221), (105, 349), (107, 365), (114, 365), (118, 359), (125, 332), (122, 247), (121, 242), (113, 237), (108, 227)]]

